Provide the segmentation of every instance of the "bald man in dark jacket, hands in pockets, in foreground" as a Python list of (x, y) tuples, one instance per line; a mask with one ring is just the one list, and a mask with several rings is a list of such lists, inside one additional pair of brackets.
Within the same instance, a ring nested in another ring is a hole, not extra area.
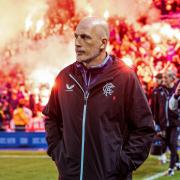
[(56, 78), (46, 116), (48, 154), (59, 180), (124, 180), (147, 158), (153, 118), (130, 68), (106, 52), (108, 25), (96, 17), (75, 30), (76, 62)]

